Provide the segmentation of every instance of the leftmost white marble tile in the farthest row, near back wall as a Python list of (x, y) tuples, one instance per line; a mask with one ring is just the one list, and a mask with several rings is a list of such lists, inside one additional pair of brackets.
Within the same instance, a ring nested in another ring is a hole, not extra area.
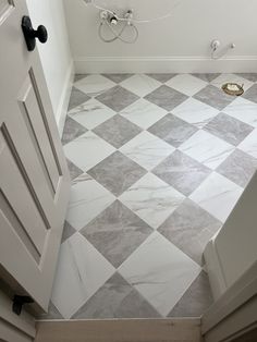
[(89, 96), (97, 96), (114, 87), (115, 85), (117, 84), (111, 80), (103, 77), (101, 75), (94, 74), (75, 82), (74, 87)]

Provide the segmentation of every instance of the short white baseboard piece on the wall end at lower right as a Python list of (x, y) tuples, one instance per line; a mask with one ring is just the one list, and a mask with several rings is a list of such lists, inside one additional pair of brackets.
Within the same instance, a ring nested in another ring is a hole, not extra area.
[(208, 272), (211, 292), (217, 301), (228, 289), (219, 255), (216, 248), (216, 236), (209, 241), (204, 252), (206, 270)]

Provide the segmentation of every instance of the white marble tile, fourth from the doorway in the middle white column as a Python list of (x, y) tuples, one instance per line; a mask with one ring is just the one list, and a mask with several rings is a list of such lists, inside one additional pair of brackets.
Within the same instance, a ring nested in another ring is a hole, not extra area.
[(122, 117), (144, 130), (149, 129), (154, 123), (167, 115), (167, 113), (164, 109), (145, 99), (137, 100), (120, 112)]

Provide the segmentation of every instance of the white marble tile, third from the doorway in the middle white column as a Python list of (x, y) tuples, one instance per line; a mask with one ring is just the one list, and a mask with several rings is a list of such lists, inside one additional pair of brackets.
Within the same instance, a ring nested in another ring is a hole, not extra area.
[(152, 170), (174, 151), (174, 147), (149, 132), (142, 132), (120, 151), (147, 170)]

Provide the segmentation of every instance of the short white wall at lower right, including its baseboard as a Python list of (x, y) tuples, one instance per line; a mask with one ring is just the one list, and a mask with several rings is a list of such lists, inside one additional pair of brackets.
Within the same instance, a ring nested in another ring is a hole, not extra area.
[(215, 297), (257, 261), (257, 172), (220, 232), (205, 251)]

